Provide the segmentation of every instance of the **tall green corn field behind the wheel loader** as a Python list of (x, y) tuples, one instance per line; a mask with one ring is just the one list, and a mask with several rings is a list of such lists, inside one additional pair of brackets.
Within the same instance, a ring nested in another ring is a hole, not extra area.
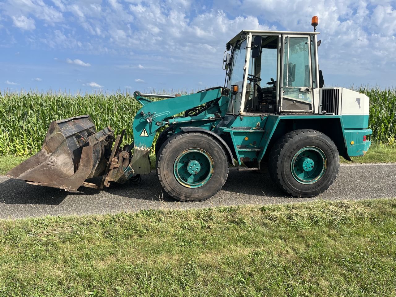
[[(356, 89), (356, 88), (355, 88)], [(394, 143), (396, 135), (396, 89), (356, 89), (371, 99), (371, 140)], [(124, 142), (131, 142), (133, 117), (140, 104), (129, 93), (0, 93), (0, 154), (31, 155), (41, 149), (53, 120), (89, 114), (97, 129), (110, 126), (115, 133), (126, 129)]]

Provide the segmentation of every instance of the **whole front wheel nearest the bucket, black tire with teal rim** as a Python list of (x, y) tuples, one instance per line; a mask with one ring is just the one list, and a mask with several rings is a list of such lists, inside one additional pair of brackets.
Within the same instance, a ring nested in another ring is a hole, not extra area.
[(210, 198), (221, 190), (228, 177), (223, 147), (200, 132), (171, 135), (158, 152), (156, 168), (164, 190), (182, 202)]

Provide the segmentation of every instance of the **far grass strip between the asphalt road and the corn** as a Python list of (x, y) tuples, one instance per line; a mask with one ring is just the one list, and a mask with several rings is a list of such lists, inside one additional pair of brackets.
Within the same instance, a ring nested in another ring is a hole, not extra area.
[[(25, 161), (29, 156), (14, 157), (10, 155), (0, 155), (0, 175), (6, 174), (10, 169), (17, 166), (19, 163)], [(155, 156), (150, 155), (151, 169), (155, 168)], [(363, 157), (352, 157), (354, 163), (396, 163), (396, 146), (373, 144), (368, 150), (366, 156)], [(340, 158), (341, 163), (352, 162)]]

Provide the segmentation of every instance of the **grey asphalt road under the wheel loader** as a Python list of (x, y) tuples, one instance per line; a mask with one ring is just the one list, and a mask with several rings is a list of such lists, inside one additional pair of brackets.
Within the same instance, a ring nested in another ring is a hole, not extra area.
[(79, 190), (65, 192), (0, 176), (0, 218), (396, 197), (396, 164), (341, 166), (334, 184), (315, 198), (288, 197), (272, 183), (267, 173), (238, 172), (236, 168), (230, 169), (223, 189), (205, 202), (173, 200), (163, 192), (154, 171), (142, 176), (139, 185), (127, 182), (100, 191), (84, 187)]

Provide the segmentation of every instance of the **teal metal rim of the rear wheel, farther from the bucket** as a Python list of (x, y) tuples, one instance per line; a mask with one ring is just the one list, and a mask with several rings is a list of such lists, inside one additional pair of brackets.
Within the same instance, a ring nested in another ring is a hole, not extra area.
[(294, 179), (306, 185), (320, 180), (326, 168), (326, 155), (317, 147), (301, 148), (291, 160), (291, 173)]

